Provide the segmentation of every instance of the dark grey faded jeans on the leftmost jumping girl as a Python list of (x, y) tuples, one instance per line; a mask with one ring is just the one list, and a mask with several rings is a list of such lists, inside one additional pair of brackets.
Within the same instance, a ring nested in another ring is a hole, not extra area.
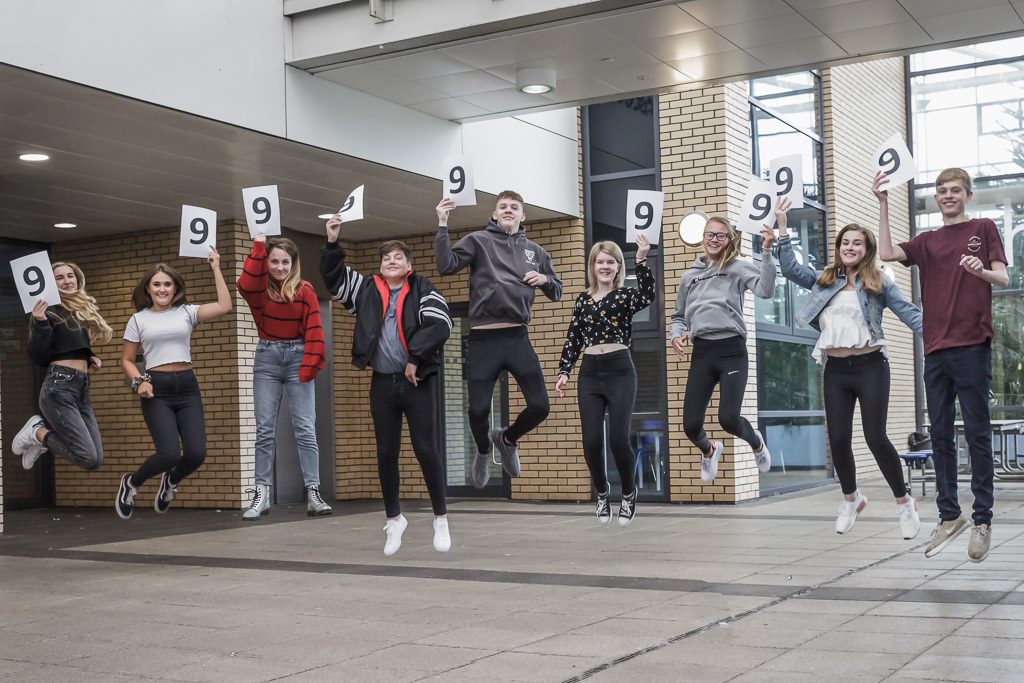
[(96, 415), (89, 404), (89, 373), (50, 366), (39, 391), (39, 411), (50, 430), (44, 445), (84, 470), (103, 462)]

